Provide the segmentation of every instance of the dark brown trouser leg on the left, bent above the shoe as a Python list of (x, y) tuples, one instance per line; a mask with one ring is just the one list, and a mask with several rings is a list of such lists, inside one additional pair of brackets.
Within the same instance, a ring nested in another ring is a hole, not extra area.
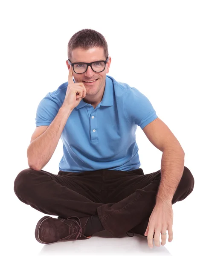
[(101, 203), (102, 172), (58, 175), (44, 170), (25, 169), (14, 182), (17, 197), (25, 204), (49, 215), (87, 217), (96, 215)]

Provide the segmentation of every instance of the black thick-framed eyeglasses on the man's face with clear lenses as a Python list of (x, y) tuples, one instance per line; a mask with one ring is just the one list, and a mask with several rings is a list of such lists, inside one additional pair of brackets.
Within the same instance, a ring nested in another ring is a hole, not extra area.
[(88, 66), (90, 66), (94, 72), (104, 71), (108, 60), (109, 60), (109, 56), (107, 57), (106, 61), (93, 61), (90, 63), (86, 63), (86, 62), (71, 63), (71, 61), (68, 59), (68, 63), (72, 65), (73, 70), (76, 74), (82, 74), (87, 71)]

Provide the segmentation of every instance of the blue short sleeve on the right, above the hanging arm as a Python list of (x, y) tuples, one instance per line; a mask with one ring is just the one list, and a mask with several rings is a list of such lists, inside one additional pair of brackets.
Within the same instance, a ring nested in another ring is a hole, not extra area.
[(123, 106), (127, 119), (142, 129), (158, 117), (149, 99), (134, 87), (125, 92)]

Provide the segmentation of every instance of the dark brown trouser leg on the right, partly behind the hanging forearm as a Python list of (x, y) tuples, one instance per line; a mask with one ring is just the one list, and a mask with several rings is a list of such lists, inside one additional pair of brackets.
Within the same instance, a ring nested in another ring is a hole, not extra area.
[[(140, 171), (140, 175), (135, 175), (136, 171)], [(104, 171), (105, 188), (110, 200), (113, 194), (114, 202), (98, 207), (97, 212), (103, 227), (113, 236), (121, 236), (132, 229), (136, 231), (134, 233), (140, 232), (154, 209), (161, 172), (159, 170), (142, 175), (141, 171), (141, 168), (128, 173)], [(194, 177), (184, 166), (183, 176), (174, 193), (172, 204), (185, 199), (193, 187)]]

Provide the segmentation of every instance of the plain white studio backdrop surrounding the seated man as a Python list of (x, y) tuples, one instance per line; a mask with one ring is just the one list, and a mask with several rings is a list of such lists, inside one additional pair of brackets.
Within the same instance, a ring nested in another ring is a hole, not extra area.
[[(3, 255), (38, 255), (45, 248), (53, 248), (35, 240), (35, 225), (44, 214), (20, 202), (13, 186), (17, 174), (29, 168), (26, 151), (35, 130), (37, 106), (46, 93), (67, 81), (68, 41), (85, 28), (97, 30), (107, 40), (112, 58), (108, 75), (145, 94), (185, 151), (185, 166), (194, 176), (194, 190), (184, 201), (173, 205), (174, 239), (169, 243), (167, 237), (164, 247), (172, 255), (190, 255), (196, 250), (204, 254), (205, 14), (206, 2), (198, 0), (1, 1), (0, 230), (1, 250), (6, 250)], [(136, 142), (145, 174), (159, 170), (162, 152), (139, 127)], [(62, 154), (60, 140), (44, 170), (57, 174)], [(110, 239), (100, 239), (99, 246), (104, 246), (99, 253), (104, 249), (105, 254), (115, 254), (117, 248), (122, 248), (123, 255), (129, 246), (133, 255), (145, 255), (150, 250), (146, 242), (144, 250), (139, 250), (142, 247), (134, 238), (117, 240), (115, 246), (108, 245)], [(91, 255), (97, 250), (97, 242), (89, 241), (92, 240), (84, 241), (84, 246), (87, 248), (90, 243)], [(67, 255), (72, 244), (68, 245)], [(161, 247), (152, 250), (161, 252)], [(55, 255), (61, 255), (62, 248), (63, 245), (59, 246)], [(52, 254), (52, 250), (48, 252)], [(78, 250), (73, 249), (74, 252), (78, 255)]]

